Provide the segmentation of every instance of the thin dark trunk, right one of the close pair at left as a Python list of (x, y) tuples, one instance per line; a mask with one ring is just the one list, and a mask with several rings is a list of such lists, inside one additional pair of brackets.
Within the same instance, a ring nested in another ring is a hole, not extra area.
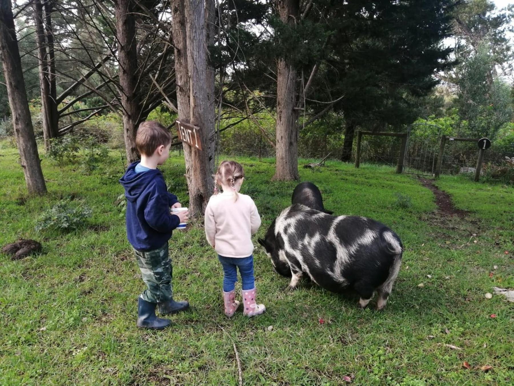
[(53, 0), (45, 0), (45, 34), (47, 49), (49, 96), (46, 97), (49, 107), (50, 138), (57, 137), (59, 131), (59, 114), (57, 112), (57, 85), (56, 85), (56, 56), (53, 48), (52, 10)]

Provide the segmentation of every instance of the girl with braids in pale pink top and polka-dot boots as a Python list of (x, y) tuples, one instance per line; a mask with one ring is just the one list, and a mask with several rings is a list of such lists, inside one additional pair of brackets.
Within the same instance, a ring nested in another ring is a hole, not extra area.
[[(263, 304), (255, 302), (251, 241), (251, 235), (261, 226), (261, 217), (250, 196), (238, 193), (243, 180), (243, 166), (235, 161), (223, 161), (214, 174), (214, 195), (205, 209), (207, 241), (217, 252), (225, 273), (223, 300), (227, 317), (231, 317), (240, 305), (235, 300), (237, 267), (243, 282), (243, 313), (252, 317), (266, 310)], [(217, 194), (218, 185), (223, 193)]]

